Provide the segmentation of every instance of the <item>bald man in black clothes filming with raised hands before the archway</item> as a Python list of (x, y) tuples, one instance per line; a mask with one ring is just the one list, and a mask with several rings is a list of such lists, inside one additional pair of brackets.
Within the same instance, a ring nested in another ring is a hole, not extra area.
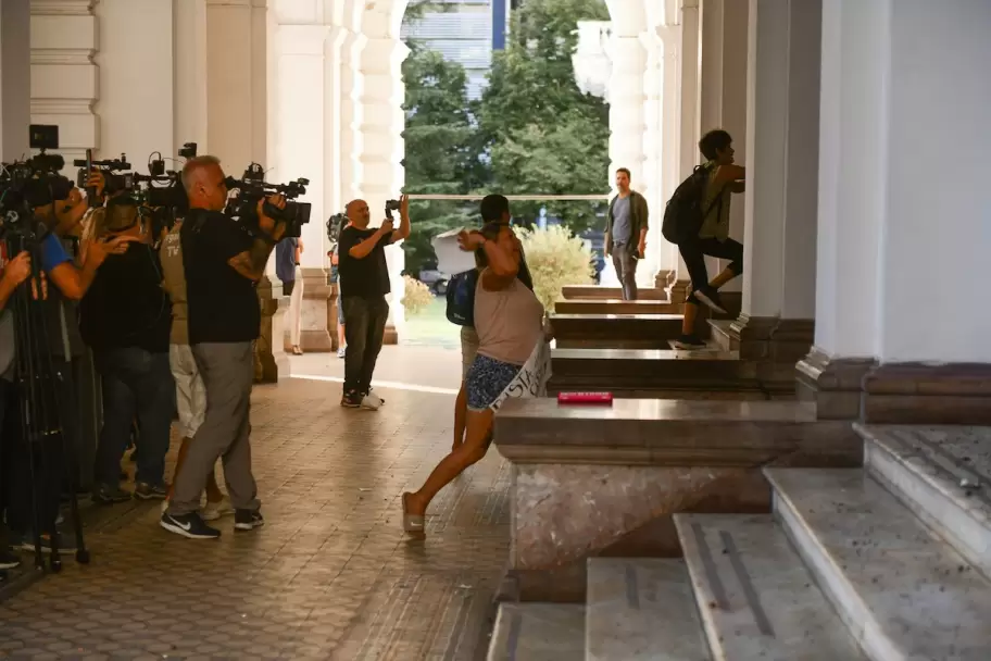
[(410, 236), (410, 199), (400, 198), (399, 229), (392, 228), (391, 217), (378, 229), (368, 229), (372, 215), (364, 200), (353, 200), (346, 211), (350, 225), (341, 230), (338, 246), (340, 304), (348, 342), (341, 406), (378, 410), (384, 401), (372, 392), (372, 374), (389, 316), (386, 295), (392, 291), (386, 246)]

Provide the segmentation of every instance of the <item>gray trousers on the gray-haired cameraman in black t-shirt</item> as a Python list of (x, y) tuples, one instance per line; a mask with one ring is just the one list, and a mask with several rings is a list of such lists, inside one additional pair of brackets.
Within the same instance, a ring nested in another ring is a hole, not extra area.
[(261, 502), (248, 440), (254, 342), (193, 345), (192, 356), (206, 390), (206, 416), (176, 476), (168, 513), (178, 516), (200, 509), (200, 495), (217, 458), (224, 460), (230, 503), (239, 510), (258, 510)]

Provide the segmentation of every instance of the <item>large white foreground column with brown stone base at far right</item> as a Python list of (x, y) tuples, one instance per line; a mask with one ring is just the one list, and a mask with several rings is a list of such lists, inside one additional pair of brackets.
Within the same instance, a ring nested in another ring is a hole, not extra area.
[(820, 416), (991, 423), (988, 25), (983, 2), (824, 3), (816, 349), (800, 364)]

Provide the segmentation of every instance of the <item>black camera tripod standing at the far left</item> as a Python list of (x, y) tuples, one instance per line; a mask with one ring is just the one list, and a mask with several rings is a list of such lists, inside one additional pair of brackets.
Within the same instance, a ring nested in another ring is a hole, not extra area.
[[(18, 240), (20, 239), (20, 240)], [(18, 245), (20, 244), (20, 245)], [(46, 323), (46, 302), (42, 296), (41, 244), (35, 236), (9, 237), (8, 254), (17, 254), (13, 250), (27, 250), (30, 253), (33, 273), (15, 290), (12, 302), (14, 310), (15, 338), (15, 378), (18, 388), (21, 412), (21, 442), (27, 444), (28, 478), (30, 483), (32, 529), (35, 542), (35, 569), (45, 570), (41, 535), (48, 533), (51, 541), (50, 568), (52, 572), (62, 570), (59, 552), (59, 534), (55, 519), (59, 509), (60, 484), (54, 479), (52, 463), (61, 450), (65, 458), (68, 476), (70, 508), (76, 537), (76, 562), (89, 563), (89, 551), (83, 538), (83, 524), (79, 521), (79, 501), (76, 496), (76, 457), (75, 448), (65, 438), (59, 407), (59, 385), (71, 376), (57, 372), (49, 349), (48, 327)], [(71, 385), (71, 383), (70, 383)], [(71, 391), (71, 387), (64, 388)], [(74, 397), (71, 397), (74, 400)], [(75, 406), (75, 401), (66, 402)], [(61, 444), (61, 448), (59, 447)], [(58, 475), (61, 477), (61, 475)]]

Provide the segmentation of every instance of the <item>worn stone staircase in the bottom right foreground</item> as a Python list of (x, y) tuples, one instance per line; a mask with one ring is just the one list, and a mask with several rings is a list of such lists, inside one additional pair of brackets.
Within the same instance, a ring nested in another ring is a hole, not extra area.
[(863, 467), (765, 467), (773, 513), (676, 514), (681, 559), (502, 604), (489, 660), (991, 659), (991, 428), (856, 431)]

